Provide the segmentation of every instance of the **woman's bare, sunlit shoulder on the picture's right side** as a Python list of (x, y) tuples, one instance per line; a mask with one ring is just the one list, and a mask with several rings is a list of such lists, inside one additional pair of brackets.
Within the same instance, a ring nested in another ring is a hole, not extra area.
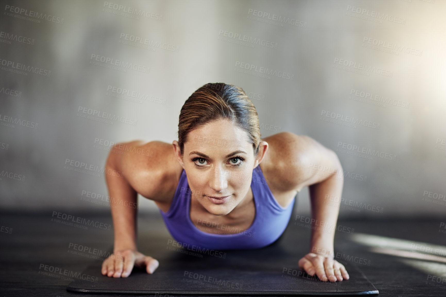
[(334, 154), (313, 138), (291, 132), (262, 140), (268, 142), (268, 152), (261, 168), (268, 184), (276, 191), (300, 191), (314, 177), (311, 167)]

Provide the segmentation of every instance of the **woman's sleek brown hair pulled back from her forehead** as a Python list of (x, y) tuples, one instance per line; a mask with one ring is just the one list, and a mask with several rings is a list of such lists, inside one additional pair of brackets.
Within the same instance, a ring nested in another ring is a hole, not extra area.
[(203, 85), (184, 102), (178, 122), (178, 145), (181, 155), (191, 130), (222, 118), (248, 132), (256, 156), (260, 144), (256, 107), (242, 88), (223, 82)]

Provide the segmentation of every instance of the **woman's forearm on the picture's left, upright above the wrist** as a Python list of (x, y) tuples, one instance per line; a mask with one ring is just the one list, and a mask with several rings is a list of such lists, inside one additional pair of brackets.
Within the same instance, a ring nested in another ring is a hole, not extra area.
[[(120, 168), (122, 155), (110, 153), (106, 169), (123, 172)], [(111, 216), (115, 232), (114, 252), (126, 249), (136, 250), (137, 193), (124, 177), (106, 175), (110, 196)]]

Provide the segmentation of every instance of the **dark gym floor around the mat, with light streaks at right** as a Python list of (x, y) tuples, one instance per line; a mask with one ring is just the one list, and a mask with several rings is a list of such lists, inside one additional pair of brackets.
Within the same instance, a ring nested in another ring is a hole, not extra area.
[[(77, 228), (51, 221), (52, 215), (51, 211), (0, 215), (0, 296), (140, 296), (69, 292), (70, 280), (41, 274), (45, 270), (42, 265), (80, 273), (100, 261), (87, 257), (88, 252), (74, 254), (74, 244), (89, 251), (107, 251), (113, 244), (112, 228)], [(76, 216), (111, 224), (110, 214)], [(339, 220), (336, 258), (354, 262), (379, 290), (379, 296), (446, 296), (446, 231), (442, 232), (446, 229), (441, 230), (440, 224), (439, 219)], [(305, 225), (289, 225), (305, 238), (302, 244), (310, 239), (310, 228)], [(157, 212), (140, 214), (138, 226), (139, 241), (164, 240), (169, 234)]]

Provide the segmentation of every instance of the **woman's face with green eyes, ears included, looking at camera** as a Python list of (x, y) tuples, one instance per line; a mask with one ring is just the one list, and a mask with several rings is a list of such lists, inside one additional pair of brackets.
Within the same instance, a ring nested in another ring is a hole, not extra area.
[(226, 119), (189, 132), (183, 156), (174, 141), (178, 161), (186, 171), (192, 199), (216, 216), (227, 215), (248, 194), (252, 170), (261, 162), (268, 143), (260, 143), (254, 157), (248, 132)]

